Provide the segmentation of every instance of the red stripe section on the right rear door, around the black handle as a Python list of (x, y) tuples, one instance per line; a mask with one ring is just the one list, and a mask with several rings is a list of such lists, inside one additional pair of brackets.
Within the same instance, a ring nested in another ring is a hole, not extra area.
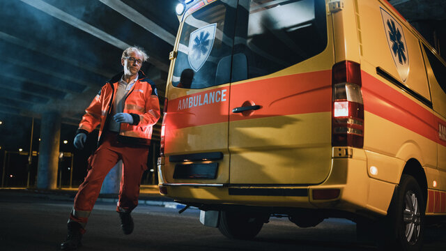
[[(261, 105), (261, 109), (251, 116), (231, 112), (247, 100)], [(231, 86), (229, 120), (330, 112), (331, 101), (331, 70), (261, 79)]]

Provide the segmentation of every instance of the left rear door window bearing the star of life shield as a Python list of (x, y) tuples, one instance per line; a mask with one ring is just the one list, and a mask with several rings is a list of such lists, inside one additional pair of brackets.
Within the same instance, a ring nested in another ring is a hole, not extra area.
[(172, 84), (202, 89), (229, 82), (236, 5), (210, 3), (185, 18)]

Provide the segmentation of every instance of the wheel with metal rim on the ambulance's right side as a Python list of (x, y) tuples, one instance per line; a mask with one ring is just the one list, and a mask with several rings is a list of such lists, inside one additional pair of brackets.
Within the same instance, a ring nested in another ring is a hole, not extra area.
[(385, 250), (422, 249), (425, 206), (420, 185), (413, 176), (403, 174), (385, 218), (388, 228), (381, 243)]

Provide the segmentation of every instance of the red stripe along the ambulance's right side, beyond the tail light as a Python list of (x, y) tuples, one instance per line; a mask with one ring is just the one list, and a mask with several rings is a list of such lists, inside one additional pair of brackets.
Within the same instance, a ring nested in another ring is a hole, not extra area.
[(361, 77), (364, 109), (367, 112), (446, 146), (438, 135), (438, 121), (443, 120), (368, 73), (362, 71)]

